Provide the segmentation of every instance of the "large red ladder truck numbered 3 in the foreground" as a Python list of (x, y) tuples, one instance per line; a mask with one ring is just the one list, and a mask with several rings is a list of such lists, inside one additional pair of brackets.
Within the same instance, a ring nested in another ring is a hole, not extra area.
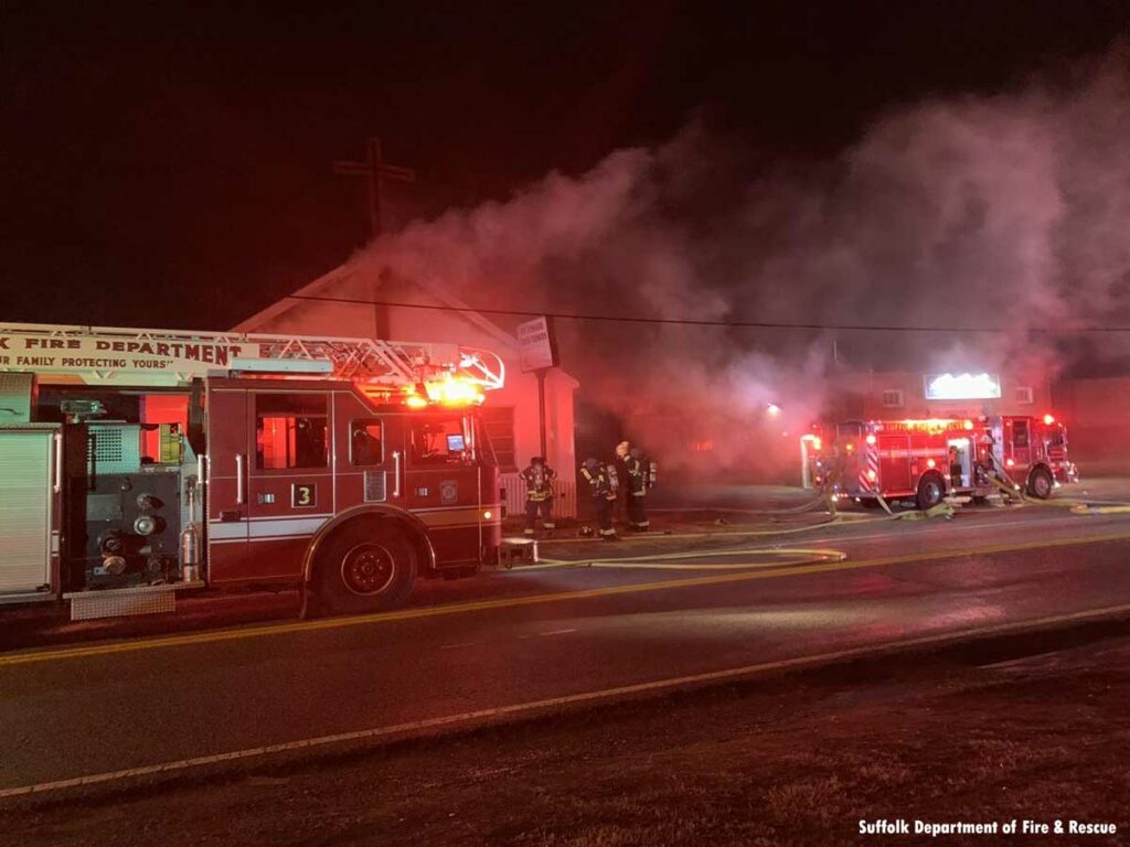
[(0, 601), (301, 585), (349, 612), (472, 574), (501, 543), (477, 407), (503, 379), (454, 344), (0, 324)]

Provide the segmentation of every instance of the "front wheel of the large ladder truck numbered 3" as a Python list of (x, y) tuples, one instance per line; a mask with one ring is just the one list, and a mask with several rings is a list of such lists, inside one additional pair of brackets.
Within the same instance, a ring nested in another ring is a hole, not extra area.
[(385, 521), (355, 519), (325, 540), (313, 593), (329, 614), (394, 609), (411, 593), (416, 569), (416, 550), (401, 531)]

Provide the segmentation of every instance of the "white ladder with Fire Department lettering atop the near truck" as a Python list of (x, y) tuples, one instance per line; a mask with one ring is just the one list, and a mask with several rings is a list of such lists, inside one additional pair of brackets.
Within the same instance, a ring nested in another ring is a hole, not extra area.
[(501, 388), (497, 355), (462, 344), (0, 323), (0, 372), (42, 382), (176, 386), (209, 374), (318, 374), (379, 387), (454, 378)]

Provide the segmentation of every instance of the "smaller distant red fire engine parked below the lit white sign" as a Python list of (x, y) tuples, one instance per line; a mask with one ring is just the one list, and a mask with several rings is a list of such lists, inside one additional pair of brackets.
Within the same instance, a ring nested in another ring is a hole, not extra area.
[(845, 421), (831, 435), (827, 449), (820, 435), (805, 436), (806, 468), (816, 486), (864, 505), (883, 497), (928, 509), (947, 495), (988, 497), (997, 483), (1046, 499), (1078, 480), (1067, 430), (1051, 414)]

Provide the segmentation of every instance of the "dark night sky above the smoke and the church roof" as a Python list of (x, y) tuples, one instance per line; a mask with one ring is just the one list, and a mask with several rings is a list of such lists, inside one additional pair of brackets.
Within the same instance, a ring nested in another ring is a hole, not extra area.
[(364, 243), (363, 186), (331, 161), (366, 134), (418, 173), (395, 225), (696, 114), (819, 161), (892, 108), (1069, 70), (1130, 23), (1099, 0), (24, 6), (0, 11), (0, 320), (198, 329)]

